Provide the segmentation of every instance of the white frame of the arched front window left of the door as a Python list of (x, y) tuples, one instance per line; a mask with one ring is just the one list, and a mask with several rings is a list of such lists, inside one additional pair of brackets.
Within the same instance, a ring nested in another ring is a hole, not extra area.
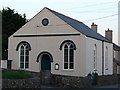
[[(23, 68), (20, 67), (20, 63), (21, 63), (21, 61), (20, 61), (20, 59), (21, 59), (20, 56), (21, 56), (21, 47), (22, 47), (22, 46), (24, 47), (24, 55), (23, 55), (23, 56), (24, 56), (24, 67), (23, 67)], [(29, 64), (30, 64), (30, 63), (29, 63), (29, 54), (26, 55), (26, 46), (28, 46), (28, 45), (27, 45), (27, 44), (21, 44), (20, 47), (19, 47), (19, 68), (20, 68), (21, 70), (24, 70), (24, 69), (27, 70), (27, 69), (29, 69)], [(28, 56), (28, 62), (27, 62), (27, 63), (28, 63), (28, 68), (25, 67), (25, 64), (26, 64), (26, 56)]]

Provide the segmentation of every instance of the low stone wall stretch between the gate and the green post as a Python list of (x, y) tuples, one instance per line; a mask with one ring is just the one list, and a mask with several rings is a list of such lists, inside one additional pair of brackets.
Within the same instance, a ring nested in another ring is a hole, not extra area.
[(51, 85), (65, 88), (90, 88), (91, 77), (51, 75)]

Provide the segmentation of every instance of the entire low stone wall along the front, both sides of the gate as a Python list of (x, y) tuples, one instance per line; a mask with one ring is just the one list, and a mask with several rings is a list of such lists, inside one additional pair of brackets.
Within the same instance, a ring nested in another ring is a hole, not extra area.
[[(41, 80), (40, 73), (30, 72), (34, 78), (30, 79), (3, 79), (2, 88), (40, 88)], [(45, 81), (46, 82), (46, 81)], [(120, 83), (119, 75), (106, 75), (97, 77), (96, 86), (112, 85)], [(50, 75), (50, 85), (65, 87), (65, 88), (92, 88), (91, 76), (87, 77), (73, 77), (63, 75)]]

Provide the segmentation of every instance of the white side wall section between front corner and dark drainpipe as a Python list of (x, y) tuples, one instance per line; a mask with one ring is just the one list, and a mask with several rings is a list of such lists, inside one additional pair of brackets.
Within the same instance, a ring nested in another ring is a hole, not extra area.
[(97, 73), (102, 75), (102, 41), (86, 37), (86, 75), (94, 72), (94, 45), (97, 46)]

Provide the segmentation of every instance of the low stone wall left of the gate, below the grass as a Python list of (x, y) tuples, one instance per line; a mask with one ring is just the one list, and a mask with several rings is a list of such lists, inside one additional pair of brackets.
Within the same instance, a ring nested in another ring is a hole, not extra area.
[(2, 88), (40, 88), (40, 78), (3, 79)]

